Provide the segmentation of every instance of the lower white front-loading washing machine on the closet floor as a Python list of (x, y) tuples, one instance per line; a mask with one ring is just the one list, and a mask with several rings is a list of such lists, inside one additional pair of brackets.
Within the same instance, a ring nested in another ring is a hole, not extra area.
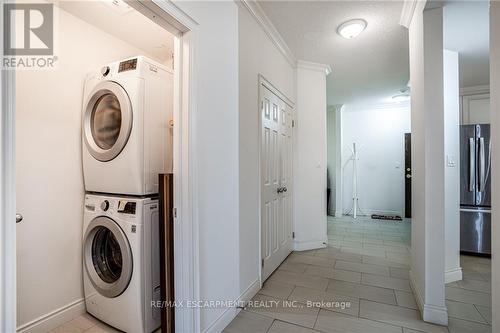
[(124, 332), (160, 327), (158, 200), (87, 194), (83, 234), (87, 312)]

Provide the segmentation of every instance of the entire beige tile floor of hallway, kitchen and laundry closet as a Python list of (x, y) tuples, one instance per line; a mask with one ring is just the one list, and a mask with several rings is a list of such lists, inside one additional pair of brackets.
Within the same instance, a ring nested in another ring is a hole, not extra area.
[[(464, 279), (446, 286), (448, 328), (420, 319), (408, 282), (410, 230), (409, 221), (330, 218), (329, 246), (292, 253), (224, 332), (491, 333), (485, 258), (462, 256)], [(51, 331), (80, 332), (118, 331), (88, 314)]]

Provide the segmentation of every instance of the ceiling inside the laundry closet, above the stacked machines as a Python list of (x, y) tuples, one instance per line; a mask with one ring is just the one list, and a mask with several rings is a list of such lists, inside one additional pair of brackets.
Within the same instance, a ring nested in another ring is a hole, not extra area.
[(173, 35), (123, 1), (58, 1), (57, 6), (143, 50), (158, 62), (171, 59)]

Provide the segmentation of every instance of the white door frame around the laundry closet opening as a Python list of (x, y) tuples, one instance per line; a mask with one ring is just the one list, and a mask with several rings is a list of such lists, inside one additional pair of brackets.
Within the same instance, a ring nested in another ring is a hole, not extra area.
[[(128, 1), (176, 35), (174, 57), (174, 285), (177, 300), (199, 299), (196, 161), (196, 48), (198, 23), (167, 0)], [(3, 43), (2, 43), (3, 45)], [(3, 50), (2, 50), (3, 51)], [(3, 54), (3, 52), (2, 52)], [(15, 72), (1, 71), (0, 332), (16, 331)], [(176, 330), (200, 331), (197, 308), (175, 309)]]

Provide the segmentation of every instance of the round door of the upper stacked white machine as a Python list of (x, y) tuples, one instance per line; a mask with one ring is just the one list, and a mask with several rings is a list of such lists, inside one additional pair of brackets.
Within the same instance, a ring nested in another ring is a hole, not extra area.
[(132, 130), (132, 105), (118, 83), (104, 81), (85, 105), (83, 137), (92, 156), (107, 162), (120, 154)]

